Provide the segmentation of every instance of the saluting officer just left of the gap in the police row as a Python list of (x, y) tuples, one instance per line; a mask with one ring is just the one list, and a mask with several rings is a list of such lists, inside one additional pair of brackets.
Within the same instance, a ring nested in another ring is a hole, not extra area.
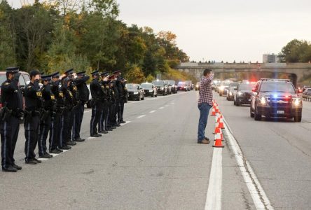
[(86, 82), (90, 79), (90, 76), (85, 75), (85, 71), (81, 71), (76, 73), (76, 87), (78, 89), (78, 97), (79, 102), (76, 106), (75, 115), (74, 115), (74, 128), (72, 130), (74, 141), (85, 141), (85, 139), (81, 139), (80, 130), (82, 125), (83, 113), (84, 113), (84, 105), (88, 102), (88, 98), (90, 95), (90, 90), (88, 90), (88, 86)]

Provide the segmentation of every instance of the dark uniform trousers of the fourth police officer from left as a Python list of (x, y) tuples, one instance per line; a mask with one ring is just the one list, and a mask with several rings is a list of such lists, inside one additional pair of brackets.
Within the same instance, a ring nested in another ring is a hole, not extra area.
[(61, 129), (61, 115), (60, 113), (55, 113), (51, 119), (50, 123), (50, 151), (54, 150), (59, 146), (60, 141), (60, 129)]

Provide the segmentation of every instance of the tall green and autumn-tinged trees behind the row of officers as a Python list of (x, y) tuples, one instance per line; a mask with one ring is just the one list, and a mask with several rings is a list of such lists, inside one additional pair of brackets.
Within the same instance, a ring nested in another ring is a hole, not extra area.
[(0, 69), (44, 73), (121, 70), (133, 80), (167, 73), (188, 55), (170, 31), (127, 26), (116, 0), (56, 0), (14, 9), (0, 3)]

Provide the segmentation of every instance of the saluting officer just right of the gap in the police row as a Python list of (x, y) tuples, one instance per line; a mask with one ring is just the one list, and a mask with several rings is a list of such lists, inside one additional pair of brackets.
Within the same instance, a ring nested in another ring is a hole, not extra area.
[(92, 116), (90, 120), (90, 136), (102, 137), (97, 131), (97, 125), (99, 123), (100, 114), (102, 113), (102, 103), (100, 97), (102, 95), (102, 85), (99, 83), (99, 71), (92, 72), (92, 82), (90, 83), (90, 92), (92, 99), (90, 105), (92, 107)]

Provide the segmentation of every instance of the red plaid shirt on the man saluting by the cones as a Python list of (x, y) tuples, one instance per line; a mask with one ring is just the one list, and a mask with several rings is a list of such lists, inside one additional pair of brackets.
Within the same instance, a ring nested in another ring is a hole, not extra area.
[(213, 106), (213, 91), (212, 91), (212, 79), (214, 78), (213, 75), (209, 76), (209, 78), (202, 77), (200, 83), (200, 98), (198, 104), (207, 103)]

